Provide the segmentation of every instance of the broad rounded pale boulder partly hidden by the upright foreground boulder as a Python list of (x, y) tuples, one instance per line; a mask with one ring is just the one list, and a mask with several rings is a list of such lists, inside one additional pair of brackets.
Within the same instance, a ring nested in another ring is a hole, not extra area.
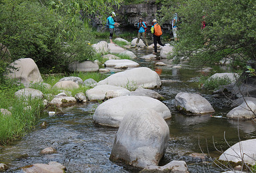
[(171, 111), (163, 102), (148, 96), (119, 96), (100, 104), (93, 120), (101, 125), (118, 127), (127, 112), (139, 108), (152, 108), (164, 119), (171, 118)]

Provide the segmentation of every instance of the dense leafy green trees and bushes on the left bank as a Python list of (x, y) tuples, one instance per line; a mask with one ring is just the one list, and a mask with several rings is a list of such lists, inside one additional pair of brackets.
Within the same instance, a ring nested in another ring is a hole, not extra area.
[[(89, 15), (109, 15), (119, 2), (0, 0), (0, 42), (9, 49), (11, 61), (32, 58), (43, 73), (65, 71), (73, 61), (95, 59)], [(1, 59), (0, 63), (9, 62)], [(0, 75), (4, 72), (1, 66)]]

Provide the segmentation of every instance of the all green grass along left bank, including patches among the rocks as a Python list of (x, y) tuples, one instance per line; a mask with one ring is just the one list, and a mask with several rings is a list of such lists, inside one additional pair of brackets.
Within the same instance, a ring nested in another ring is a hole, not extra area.
[[(44, 83), (53, 86), (63, 77), (80, 77), (83, 81), (86, 79), (94, 79), (99, 82), (105, 79), (105, 75), (100, 73), (71, 73), (62, 75), (43, 75)], [(3, 116), (0, 114), (0, 144), (10, 144), (14, 140), (29, 132), (35, 126), (43, 114), (43, 99), (17, 98), (15, 92), (24, 88), (23, 85), (13, 85), (13, 82), (0, 87), (0, 108), (6, 108), (11, 112), (11, 116)], [(48, 88), (43, 84), (33, 84), (31, 88), (41, 90), (44, 99), (51, 101), (59, 89)], [(78, 92), (85, 93), (89, 87), (80, 85), (79, 88), (69, 89), (71, 96), (75, 96)], [(27, 106), (31, 108), (27, 108)]]

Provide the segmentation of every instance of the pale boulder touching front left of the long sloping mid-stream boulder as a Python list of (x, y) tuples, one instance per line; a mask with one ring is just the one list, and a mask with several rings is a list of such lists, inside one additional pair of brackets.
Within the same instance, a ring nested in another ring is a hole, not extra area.
[(86, 91), (86, 96), (90, 101), (105, 100), (117, 96), (129, 94), (129, 90), (113, 85), (99, 85)]

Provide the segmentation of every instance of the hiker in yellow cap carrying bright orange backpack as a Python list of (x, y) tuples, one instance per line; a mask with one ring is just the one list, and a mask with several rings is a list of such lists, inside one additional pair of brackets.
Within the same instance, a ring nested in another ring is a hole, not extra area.
[(161, 46), (165, 46), (165, 45), (161, 43), (160, 36), (162, 35), (162, 30), (160, 25), (157, 23), (156, 19), (152, 21), (151, 33), (153, 34), (153, 42), (154, 42), (154, 48), (155, 48), (155, 51), (153, 54), (157, 54), (157, 43), (159, 43), (159, 45)]

